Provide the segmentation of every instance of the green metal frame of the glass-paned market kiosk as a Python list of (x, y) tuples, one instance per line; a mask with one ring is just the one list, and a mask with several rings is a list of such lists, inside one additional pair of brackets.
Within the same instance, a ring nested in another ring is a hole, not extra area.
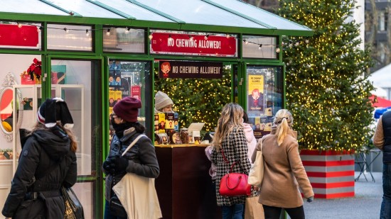
[[(41, 59), (43, 62), (43, 72), (50, 72), (50, 63), (52, 59), (68, 59), (68, 60), (100, 60), (101, 63), (101, 72), (100, 72), (100, 95), (102, 96), (102, 103), (108, 103), (108, 91), (109, 91), (109, 82), (108, 82), (108, 60), (109, 59), (117, 59), (117, 60), (129, 60), (129, 61), (144, 61), (144, 62), (151, 62), (151, 95), (147, 97), (149, 101), (151, 101), (151, 107), (154, 108), (154, 67), (156, 63), (154, 62), (155, 59), (159, 60), (192, 60), (192, 61), (211, 61), (211, 62), (224, 62), (224, 64), (231, 64), (231, 86), (232, 91), (235, 89), (234, 84), (234, 75), (233, 75), (233, 66), (237, 65), (237, 79), (243, 78), (243, 82), (241, 86), (238, 86), (238, 103), (242, 106), (246, 106), (246, 86), (247, 82), (245, 81), (246, 77), (246, 67), (247, 64), (256, 64), (256, 65), (267, 65), (267, 66), (283, 66), (283, 79), (285, 79), (285, 66), (282, 63), (282, 52), (279, 52), (277, 55), (277, 59), (275, 60), (259, 60), (259, 59), (252, 59), (252, 58), (243, 58), (242, 57), (242, 35), (270, 35), (270, 36), (276, 36), (278, 37), (278, 45), (281, 48), (281, 42), (282, 42), (282, 35), (291, 35), (291, 36), (311, 36), (313, 35), (312, 30), (303, 31), (303, 30), (277, 30), (276, 28), (273, 28), (272, 26), (268, 26), (262, 21), (257, 21), (255, 18), (250, 18), (249, 16), (246, 16), (245, 14), (242, 14), (238, 11), (227, 9), (224, 6), (221, 6), (220, 4), (216, 4), (213, 1), (210, 0), (203, 0), (204, 2), (208, 4), (212, 4), (213, 6), (217, 6), (220, 9), (224, 9), (226, 11), (230, 11), (231, 13), (235, 13), (237, 16), (241, 16), (242, 18), (246, 18), (247, 20), (250, 20), (252, 22), (258, 23), (262, 26), (267, 27), (266, 29), (262, 28), (242, 28), (242, 27), (230, 27), (230, 26), (215, 26), (215, 25), (200, 25), (200, 24), (193, 24), (193, 23), (186, 23), (184, 21), (181, 21), (178, 18), (175, 18), (173, 16), (170, 16), (166, 13), (163, 13), (161, 11), (157, 11), (156, 9), (151, 9), (149, 6), (145, 6), (144, 4), (141, 4), (140, 2), (136, 0), (127, 0), (131, 2), (132, 4), (135, 4), (137, 6), (141, 6), (142, 8), (152, 11), (154, 13), (159, 14), (160, 16), (164, 16), (165, 18), (170, 19), (174, 22), (162, 22), (162, 21), (138, 21), (134, 19), (134, 17), (128, 15), (127, 13), (123, 13), (122, 11), (118, 11), (117, 9), (112, 9), (111, 7), (102, 4), (99, 1), (92, 1), (87, 0), (92, 4), (96, 4), (98, 6), (101, 6), (104, 9), (107, 9), (109, 11), (112, 11), (113, 13), (117, 13), (119, 16), (123, 16), (126, 19), (116, 19), (116, 18), (86, 18), (82, 17), (80, 14), (76, 13), (75, 11), (69, 11), (67, 9), (63, 9), (60, 6), (56, 6), (55, 4), (51, 3), (48, 0), (41, 0), (45, 2), (45, 4), (48, 4), (50, 6), (55, 7), (56, 9), (59, 9), (61, 11), (65, 11), (66, 13), (69, 13), (70, 16), (54, 16), (54, 15), (38, 15), (38, 14), (31, 14), (31, 13), (4, 13), (0, 12), (0, 21), (20, 21), (20, 22), (26, 22), (26, 23), (41, 23), (43, 26), (43, 30), (41, 32), (41, 39), (42, 39), (42, 50), (14, 50), (14, 49), (4, 49), (0, 48), (1, 53), (6, 54), (26, 54), (26, 55), (41, 55)], [(64, 23), (69, 25), (85, 25), (85, 26), (92, 26), (92, 29), (95, 30), (92, 32), (92, 51), (86, 52), (86, 51), (52, 51), (47, 50), (47, 37), (46, 37), (46, 30), (48, 23)], [(132, 28), (141, 28), (145, 29), (145, 54), (129, 54), (129, 53), (114, 53), (114, 52), (104, 52), (102, 45), (103, 45), (103, 26), (107, 27), (132, 27)], [(150, 40), (148, 38), (148, 35), (150, 33), (150, 30), (178, 30), (178, 31), (188, 31), (188, 32), (205, 32), (205, 33), (228, 33), (228, 34), (235, 34), (238, 35), (237, 38), (237, 57), (188, 57), (183, 55), (156, 55), (151, 54), (149, 50)], [(48, 74), (47, 82), (42, 83), (42, 96), (43, 98), (50, 97), (50, 79), (51, 75)], [(285, 94), (285, 86), (284, 87), (284, 94)], [(234, 99), (234, 93), (232, 92), (231, 99)], [(284, 96), (284, 107), (285, 107), (285, 96)], [(102, 148), (99, 148), (97, 150), (97, 157), (95, 157), (97, 160), (104, 160), (107, 156), (107, 142), (109, 142), (108, 139), (108, 130), (109, 130), (109, 116), (108, 111), (109, 107), (108, 104), (102, 104), (101, 107), (102, 115), (98, 115), (97, 118), (102, 120), (101, 122), (101, 146)], [(154, 113), (151, 111), (150, 115), (146, 115), (147, 118), (153, 118)], [(153, 121), (150, 120), (150, 123), (152, 124)], [(154, 137), (154, 136), (152, 136)], [(100, 162), (97, 162), (97, 166), (100, 165)], [(97, 170), (100, 170), (101, 167), (96, 167)], [(90, 177), (90, 176), (80, 176), (78, 179), (80, 181), (92, 181), (92, 180), (99, 180), (99, 177), (103, 176), (101, 174), (97, 174), (97, 178)], [(99, 200), (97, 196), (97, 200), (95, 201), (95, 206), (104, 206), (105, 198), (102, 198), (102, 194), (105, 193), (104, 183), (98, 185), (97, 188), (95, 188), (95, 191), (97, 193), (100, 193), (99, 196), (101, 200)], [(102, 218), (103, 208), (95, 208), (96, 212), (95, 215), (97, 218)]]

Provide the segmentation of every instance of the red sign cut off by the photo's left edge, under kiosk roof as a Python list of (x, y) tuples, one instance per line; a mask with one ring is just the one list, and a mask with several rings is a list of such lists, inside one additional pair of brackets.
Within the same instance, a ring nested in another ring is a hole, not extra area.
[(34, 47), (39, 43), (36, 26), (0, 24), (0, 47)]

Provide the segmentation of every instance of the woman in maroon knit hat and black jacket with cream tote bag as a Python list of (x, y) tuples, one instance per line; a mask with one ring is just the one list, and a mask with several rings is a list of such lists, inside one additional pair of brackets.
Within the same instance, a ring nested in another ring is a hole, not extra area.
[[(139, 108), (141, 108), (141, 101), (127, 96), (114, 105), (113, 113), (110, 115), (115, 135), (110, 143), (109, 155), (102, 165), (103, 172), (106, 174), (105, 219), (128, 218), (127, 215), (116, 215), (109, 208), (110, 198), (115, 196), (112, 188), (125, 174), (132, 173), (146, 178), (159, 176), (155, 147), (149, 137), (142, 136), (123, 157), (121, 156), (133, 140), (144, 133), (144, 125), (137, 122)], [(143, 197), (134, 197), (132, 200), (138, 198)]]

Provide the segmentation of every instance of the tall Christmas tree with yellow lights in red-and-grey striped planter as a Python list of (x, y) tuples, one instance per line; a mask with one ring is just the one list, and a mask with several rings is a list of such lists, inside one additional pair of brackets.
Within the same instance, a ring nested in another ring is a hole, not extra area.
[(311, 38), (283, 38), (286, 108), (301, 148), (357, 150), (373, 135), (373, 85), (365, 75), (373, 62), (360, 49), (353, 9), (350, 0), (280, 1), (280, 16), (314, 30)]

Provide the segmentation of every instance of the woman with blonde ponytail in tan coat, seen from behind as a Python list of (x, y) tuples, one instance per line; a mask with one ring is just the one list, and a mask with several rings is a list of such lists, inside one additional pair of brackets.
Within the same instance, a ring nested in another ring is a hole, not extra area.
[(292, 219), (304, 219), (303, 198), (311, 202), (314, 191), (299, 156), (296, 132), (291, 130), (293, 118), (289, 111), (281, 109), (274, 117), (272, 133), (257, 143), (252, 155), (255, 161), (257, 150), (264, 157), (264, 179), (259, 203), (264, 208), (265, 218), (279, 218), (282, 208)]

